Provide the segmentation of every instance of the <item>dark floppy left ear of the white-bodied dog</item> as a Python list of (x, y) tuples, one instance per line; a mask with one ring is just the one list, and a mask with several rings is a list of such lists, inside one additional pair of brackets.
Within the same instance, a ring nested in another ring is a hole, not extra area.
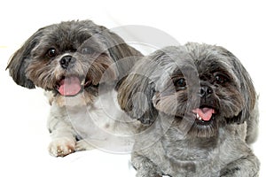
[(27, 79), (25, 70), (29, 62), (28, 60), (32, 58), (31, 50), (33, 50), (40, 42), (40, 37), (43, 35), (42, 30), (43, 28), (39, 29), (34, 35), (27, 39), (27, 42), (25, 42), (23, 46), (13, 54), (6, 67), (6, 69), (9, 69), (9, 73), (13, 80), (18, 85), (27, 89), (35, 89), (33, 81)]

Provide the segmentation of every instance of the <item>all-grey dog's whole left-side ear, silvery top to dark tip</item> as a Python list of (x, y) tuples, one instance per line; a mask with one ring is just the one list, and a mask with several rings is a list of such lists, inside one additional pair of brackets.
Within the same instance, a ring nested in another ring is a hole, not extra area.
[(118, 87), (118, 103), (121, 109), (132, 119), (151, 125), (157, 119), (159, 111), (154, 107), (154, 97), (159, 92), (161, 67), (166, 53), (163, 50), (153, 52), (147, 57), (137, 59), (129, 75), (123, 78)]

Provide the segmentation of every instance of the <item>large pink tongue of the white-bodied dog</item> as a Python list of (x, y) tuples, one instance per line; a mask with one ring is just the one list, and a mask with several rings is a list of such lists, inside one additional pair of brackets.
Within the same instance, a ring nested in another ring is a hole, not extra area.
[(74, 96), (81, 91), (81, 82), (77, 77), (68, 77), (60, 81), (59, 93), (62, 96)]

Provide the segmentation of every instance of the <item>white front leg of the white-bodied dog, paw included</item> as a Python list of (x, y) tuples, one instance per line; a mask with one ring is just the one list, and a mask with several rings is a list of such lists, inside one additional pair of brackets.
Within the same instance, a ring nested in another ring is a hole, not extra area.
[(51, 109), (48, 119), (48, 128), (51, 133), (49, 152), (54, 157), (65, 157), (75, 150), (75, 134), (66, 112), (62, 109)]

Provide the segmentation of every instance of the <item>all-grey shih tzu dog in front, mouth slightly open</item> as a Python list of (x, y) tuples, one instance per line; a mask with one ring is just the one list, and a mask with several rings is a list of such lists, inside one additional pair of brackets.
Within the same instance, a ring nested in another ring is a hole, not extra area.
[(121, 109), (142, 122), (132, 152), (138, 177), (258, 176), (254, 85), (223, 47), (167, 47), (138, 60), (121, 83)]

